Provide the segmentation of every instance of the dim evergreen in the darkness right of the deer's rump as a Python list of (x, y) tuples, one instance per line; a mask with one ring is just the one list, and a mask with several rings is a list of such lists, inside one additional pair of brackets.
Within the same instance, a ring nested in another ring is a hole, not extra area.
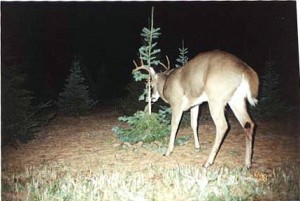
[(253, 114), (264, 119), (279, 119), (288, 112), (288, 107), (282, 98), (280, 88), (281, 78), (276, 71), (276, 63), (269, 59), (261, 78), (261, 90), (258, 105), (253, 108)]

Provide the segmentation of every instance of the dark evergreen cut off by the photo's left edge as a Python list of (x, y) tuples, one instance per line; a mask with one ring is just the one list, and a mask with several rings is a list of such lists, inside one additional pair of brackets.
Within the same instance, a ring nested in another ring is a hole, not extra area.
[[(16, 142), (27, 142), (35, 133), (55, 116), (47, 111), (52, 101), (34, 104), (33, 93), (26, 89), (27, 76), (21, 66), (2, 68), (2, 145), (18, 146)], [(18, 148), (18, 147), (16, 147)]]

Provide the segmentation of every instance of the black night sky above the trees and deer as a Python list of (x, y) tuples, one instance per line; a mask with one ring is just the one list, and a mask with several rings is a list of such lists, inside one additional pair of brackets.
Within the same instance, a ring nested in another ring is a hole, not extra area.
[(109, 91), (120, 93), (152, 6), (171, 64), (182, 39), (189, 58), (226, 50), (260, 75), (271, 55), (286, 95), (299, 90), (296, 2), (1, 2), (2, 66), (22, 63), (33, 91), (46, 96), (61, 90), (79, 53), (88, 69), (104, 66), (114, 80)]

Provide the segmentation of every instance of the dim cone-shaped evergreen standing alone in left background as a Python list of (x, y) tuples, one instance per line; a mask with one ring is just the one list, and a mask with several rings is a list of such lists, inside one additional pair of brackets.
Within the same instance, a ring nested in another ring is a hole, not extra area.
[(75, 59), (66, 79), (64, 91), (59, 94), (59, 110), (67, 115), (79, 116), (86, 114), (95, 103), (89, 96), (89, 89), (81, 72), (80, 62)]

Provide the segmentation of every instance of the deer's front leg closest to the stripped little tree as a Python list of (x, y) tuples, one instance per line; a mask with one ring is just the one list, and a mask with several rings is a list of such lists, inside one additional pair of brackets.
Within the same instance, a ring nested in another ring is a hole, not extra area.
[(182, 110), (177, 108), (172, 108), (172, 122), (171, 122), (171, 134), (170, 134), (170, 142), (167, 152), (164, 154), (164, 156), (169, 156), (173, 149), (174, 149), (174, 143), (175, 143), (175, 137), (178, 130), (178, 126), (180, 123), (180, 119), (182, 116)]

